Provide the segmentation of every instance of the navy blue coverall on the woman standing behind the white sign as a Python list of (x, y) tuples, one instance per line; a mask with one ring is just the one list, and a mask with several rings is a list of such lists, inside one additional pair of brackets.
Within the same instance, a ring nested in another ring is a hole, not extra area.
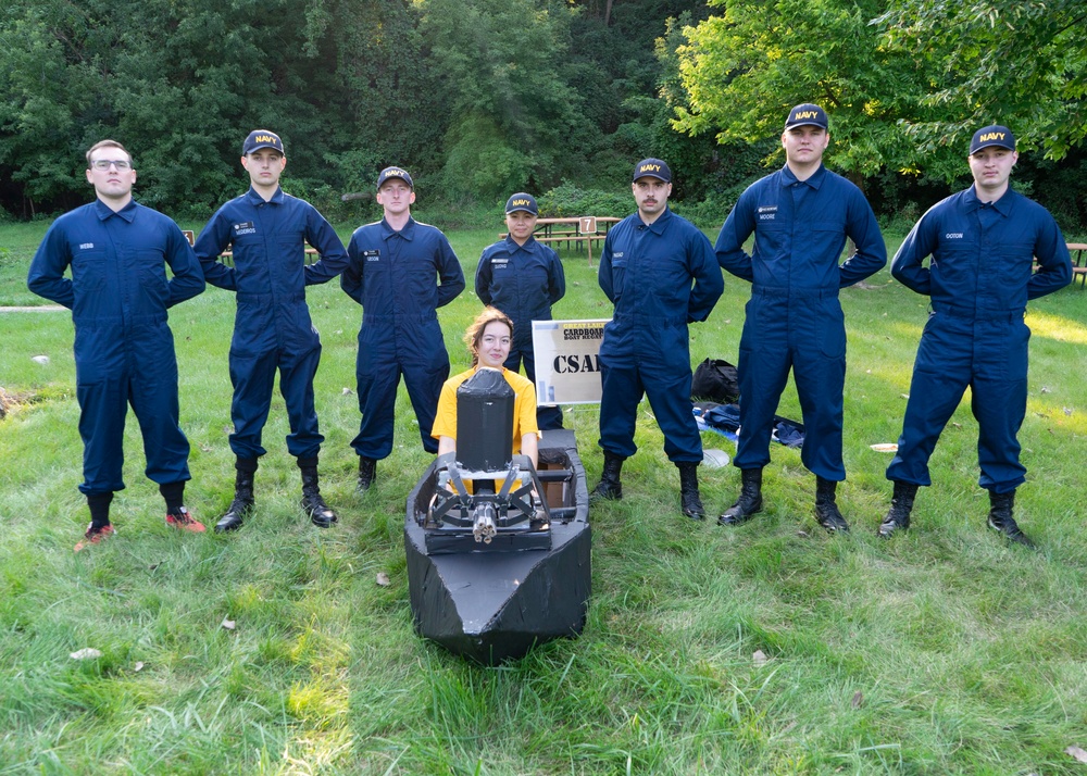
[[(551, 305), (566, 293), (566, 275), (559, 254), (529, 237), (518, 246), (507, 237), (484, 249), (476, 267), (476, 296), (513, 321), (510, 358), (503, 364), (516, 372), (525, 362), (525, 374), (536, 383), (533, 351), (533, 321), (550, 321)], [(536, 387), (537, 393), (539, 386)], [(561, 406), (537, 406), (536, 422), (541, 431), (562, 428)]]

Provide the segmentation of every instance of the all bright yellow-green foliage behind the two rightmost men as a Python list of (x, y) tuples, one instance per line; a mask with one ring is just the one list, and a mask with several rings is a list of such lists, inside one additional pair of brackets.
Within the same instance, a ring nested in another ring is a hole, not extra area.
[[(877, 211), (892, 213), (910, 202), (923, 211), (969, 183), (970, 136), (1007, 124), (1026, 152), (1016, 179), (1065, 228), (1087, 222), (1087, 4), (709, 4), (712, 15), (687, 26), (676, 49), (677, 129), (725, 143), (770, 141), (791, 105), (819, 102), (830, 114), (830, 164), (875, 189)], [(780, 163), (777, 146), (770, 149), (767, 161)]]

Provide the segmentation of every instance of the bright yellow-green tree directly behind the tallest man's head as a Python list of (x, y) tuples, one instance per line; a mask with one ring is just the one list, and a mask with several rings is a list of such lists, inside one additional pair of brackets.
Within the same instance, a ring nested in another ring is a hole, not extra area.
[(912, 168), (899, 120), (916, 104), (916, 67), (870, 24), (882, 3), (711, 0), (724, 13), (688, 27), (678, 51), (688, 107), (675, 127), (755, 142), (778, 136), (792, 105), (817, 102), (830, 115), (836, 167), (854, 176)]

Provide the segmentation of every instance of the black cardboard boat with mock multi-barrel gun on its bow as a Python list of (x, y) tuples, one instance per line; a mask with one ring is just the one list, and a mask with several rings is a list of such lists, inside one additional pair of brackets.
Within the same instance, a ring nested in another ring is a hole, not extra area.
[[(404, 549), (416, 631), (488, 665), (576, 636), (588, 609), (591, 535), (574, 433), (544, 431), (539, 468), (510, 456), (504, 484), (495, 489), (480, 486), (483, 472), (454, 460), (463, 458), (439, 456), (408, 497)], [(477, 492), (466, 492), (464, 480)], [(546, 498), (533, 499), (534, 490)]]

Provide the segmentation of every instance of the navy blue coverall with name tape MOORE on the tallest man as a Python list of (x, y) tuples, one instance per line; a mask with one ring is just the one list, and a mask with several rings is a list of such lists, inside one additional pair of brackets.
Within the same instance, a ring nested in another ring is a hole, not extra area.
[[(742, 246), (752, 231), (748, 255)], [(857, 253), (839, 266), (847, 237)], [(752, 285), (740, 338), (734, 465), (770, 463), (774, 414), (791, 368), (805, 430), (801, 461), (824, 479), (845, 479), (846, 324), (838, 289), (887, 263), (872, 206), (857, 186), (823, 165), (802, 182), (786, 165), (740, 195), (716, 253), (722, 267)]]

